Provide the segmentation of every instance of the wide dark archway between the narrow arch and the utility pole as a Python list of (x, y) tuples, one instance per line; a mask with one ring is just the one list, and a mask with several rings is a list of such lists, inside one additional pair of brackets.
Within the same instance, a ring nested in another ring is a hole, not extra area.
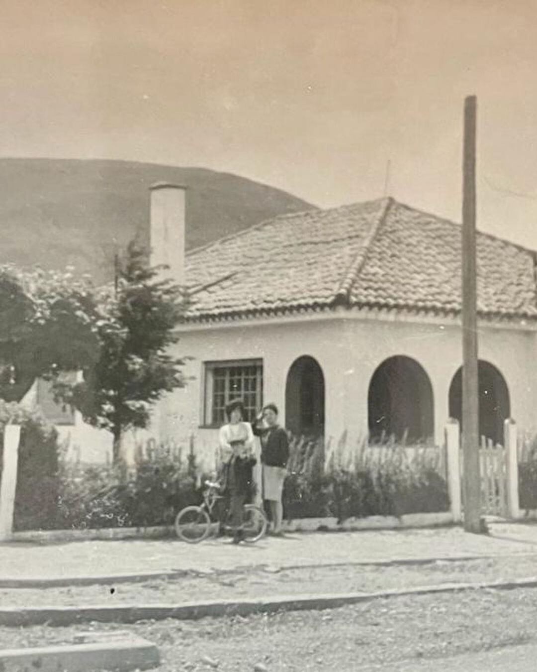
[(409, 357), (385, 360), (369, 383), (369, 435), (426, 442), (434, 436), (432, 385), (424, 368)]

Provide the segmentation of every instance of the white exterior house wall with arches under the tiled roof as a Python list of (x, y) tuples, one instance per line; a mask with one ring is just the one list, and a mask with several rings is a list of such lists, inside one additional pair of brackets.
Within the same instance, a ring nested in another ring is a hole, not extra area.
[[(536, 425), (537, 335), (534, 331), (481, 325), (479, 358), (496, 366), (507, 383), (511, 416), (519, 427)], [(291, 364), (310, 355), (325, 378), (326, 437), (338, 439), (367, 432), (367, 395), (375, 369), (393, 355), (407, 355), (426, 370), (434, 394), (434, 427), (437, 444), (443, 442), (448, 419), (448, 392), (452, 377), (462, 364), (460, 326), (455, 323), (411, 322), (382, 317), (365, 318), (350, 312), (339, 317), (308, 316), (302, 321), (236, 323), (185, 330), (177, 355), (189, 355), (187, 386), (170, 395), (160, 409), (162, 439), (187, 445), (195, 437), (197, 452), (212, 466), (217, 430), (201, 427), (203, 362), (263, 360), (264, 403), (274, 402), (285, 424), (285, 383)]]

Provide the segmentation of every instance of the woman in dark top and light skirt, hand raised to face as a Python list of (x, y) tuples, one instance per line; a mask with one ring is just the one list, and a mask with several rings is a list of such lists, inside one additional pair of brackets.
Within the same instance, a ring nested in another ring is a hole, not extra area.
[(274, 404), (267, 404), (261, 417), (266, 427), (257, 424), (254, 434), (261, 439), (263, 499), (269, 501), (271, 507), (273, 534), (281, 536), (283, 482), (287, 475), (289, 439), (285, 429), (278, 424), (278, 409)]

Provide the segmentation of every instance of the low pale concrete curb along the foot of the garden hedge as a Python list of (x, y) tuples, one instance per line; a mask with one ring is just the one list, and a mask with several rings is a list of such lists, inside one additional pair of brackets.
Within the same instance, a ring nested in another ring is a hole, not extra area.
[[(338, 523), (337, 518), (301, 518), (286, 520), (285, 532), (358, 532), (365, 530), (410, 530), (453, 525), (450, 511), (438, 513), (407, 513), (395, 516), (373, 515), (367, 518), (348, 518)], [(9, 542), (37, 544), (68, 543), (78, 541), (120, 541), (124, 539), (162, 539), (175, 537), (173, 526), (152, 528), (102, 528), (98, 530), (35, 530), (13, 532)]]

